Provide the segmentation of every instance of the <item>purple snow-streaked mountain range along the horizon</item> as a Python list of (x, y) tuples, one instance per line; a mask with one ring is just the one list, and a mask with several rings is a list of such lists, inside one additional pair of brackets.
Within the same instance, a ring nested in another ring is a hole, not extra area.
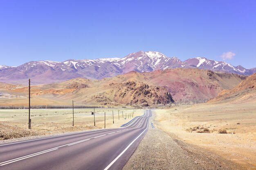
[(181, 61), (167, 57), (160, 52), (139, 51), (123, 58), (69, 59), (63, 62), (30, 61), (18, 67), (0, 65), (0, 82), (27, 84), (28, 78), (34, 84), (49, 84), (67, 81), (72, 78), (102, 79), (125, 74), (130, 71), (152, 72), (167, 68), (199, 68), (217, 72), (250, 75), (256, 68), (245, 69), (224, 61), (214, 61), (196, 57)]

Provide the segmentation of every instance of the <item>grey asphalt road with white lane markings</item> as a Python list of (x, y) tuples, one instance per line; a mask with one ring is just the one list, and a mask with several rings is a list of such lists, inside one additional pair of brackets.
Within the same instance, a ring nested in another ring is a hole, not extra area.
[(148, 130), (149, 118), (100, 129), (0, 145), (0, 170), (119, 170)]

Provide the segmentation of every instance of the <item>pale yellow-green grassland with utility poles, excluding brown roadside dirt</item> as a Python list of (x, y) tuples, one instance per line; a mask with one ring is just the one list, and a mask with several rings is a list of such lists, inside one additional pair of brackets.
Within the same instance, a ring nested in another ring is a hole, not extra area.
[[(114, 124), (112, 111), (114, 111)], [(32, 130), (47, 130), (49, 133), (58, 133), (61, 131), (64, 132), (63, 128), (67, 127), (71, 128), (70, 131), (72, 131), (72, 129), (83, 130), (83, 127), (87, 127), (86, 129), (94, 129), (94, 127), (92, 127), (94, 126), (94, 116), (91, 114), (92, 112), (93, 108), (74, 109), (74, 126), (81, 127), (77, 129), (71, 127), (73, 121), (72, 109), (31, 109)], [(130, 115), (132, 116), (133, 108), (95, 108), (96, 128), (104, 128), (104, 112), (106, 112), (106, 128), (117, 128), (132, 119)], [(124, 118), (126, 116), (126, 120), (123, 118), (122, 112), (124, 113)], [(143, 113), (144, 110), (137, 109), (134, 112), (133, 118), (135, 116), (141, 116)], [(28, 109), (1, 109), (0, 122), (1, 121), (7, 122), (8, 125), (20, 126), (26, 129), (28, 123)]]

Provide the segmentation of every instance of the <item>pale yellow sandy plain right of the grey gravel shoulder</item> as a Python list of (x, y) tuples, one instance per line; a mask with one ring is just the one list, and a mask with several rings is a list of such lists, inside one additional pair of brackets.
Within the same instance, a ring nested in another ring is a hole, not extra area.
[(156, 127), (172, 137), (256, 169), (256, 103), (186, 105), (154, 113)]

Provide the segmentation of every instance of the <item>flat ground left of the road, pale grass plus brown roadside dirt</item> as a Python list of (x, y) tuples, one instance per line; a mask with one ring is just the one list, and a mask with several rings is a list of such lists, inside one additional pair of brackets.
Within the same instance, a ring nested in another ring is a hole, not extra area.
[[(118, 118), (119, 110), (119, 118)], [(96, 108), (95, 124), (93, 109), (74, 109), (74, 126), (72, 126), (72, 109), (31, 109), (31, 130), (28, 129), (27, 109), (0, 110), (0, 140), (33, 135), (47, 135), (71, 131), (104, 128), (104, 112), (106, 112), (106, 128), (117, 128), (135, 116), (141, 116), (144, 110), (133, 108)], [(113, 115), (114, 112), (114, 124)], [(123, 118), (126, 117), (126, 120)]]

